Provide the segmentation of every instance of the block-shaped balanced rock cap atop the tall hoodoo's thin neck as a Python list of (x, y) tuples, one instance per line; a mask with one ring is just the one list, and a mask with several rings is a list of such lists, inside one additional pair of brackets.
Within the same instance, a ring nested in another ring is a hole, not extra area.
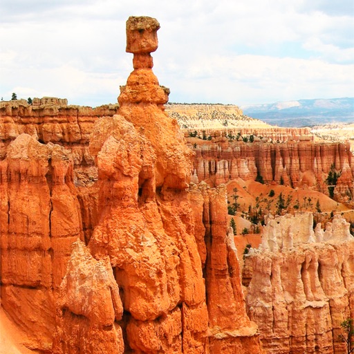
[(151, 53), (158, 48), (157, 31), (160, 24), (156, 19), (131, 16), (127, 20), (127, 53)]

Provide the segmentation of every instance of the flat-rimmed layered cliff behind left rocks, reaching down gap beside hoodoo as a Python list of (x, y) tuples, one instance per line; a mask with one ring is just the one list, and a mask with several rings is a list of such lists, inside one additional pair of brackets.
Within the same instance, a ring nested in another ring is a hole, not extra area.
[(88, 143), (97, 118), (117, 111), (118, 104), (92, 109), (68, 106), (67, 100), (55, 97), (34, 98), (32, 105), (26, 100), (0, 102), (0, 160), (6, 158), (10, 143), (24, 133), (42, 144), (60, 145), (70, 156), (71, 180), (80, 202), (86, 240), (97, 218), (97, 167)]

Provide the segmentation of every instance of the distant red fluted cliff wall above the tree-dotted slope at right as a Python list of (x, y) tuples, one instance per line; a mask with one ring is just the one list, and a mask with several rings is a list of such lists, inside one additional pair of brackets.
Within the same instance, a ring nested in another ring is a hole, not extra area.
[(258, 173), (265, 183), (279, 184), (282, 179), (285, 185), (328, 194), (326, 178), (333, 165), (340, 175), (334, 188), (336, 198), (350, 201), (353, 196), (354, 158), (348, 143), (245, 143), (228, 142), (225, 137), (194, 141), (189, 138), (196, 152), (194, 175), (199, 181), (209, 179), (219, 185), (238, 177), (255, 179)]

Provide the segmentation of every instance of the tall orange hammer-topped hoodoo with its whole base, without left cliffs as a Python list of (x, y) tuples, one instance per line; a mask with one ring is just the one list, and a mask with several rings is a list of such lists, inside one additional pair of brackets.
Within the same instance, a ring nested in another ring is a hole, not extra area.
[(87, 248), (75, 243), (71, 254), (55, 353), (261, 353), (225, 242), (225, 188), (187, 189), (192, 151), (151, 71), (158, 28), (149, 17), (127, 21), (135, 70), (118, 115), (93, 131), (100, 213)]

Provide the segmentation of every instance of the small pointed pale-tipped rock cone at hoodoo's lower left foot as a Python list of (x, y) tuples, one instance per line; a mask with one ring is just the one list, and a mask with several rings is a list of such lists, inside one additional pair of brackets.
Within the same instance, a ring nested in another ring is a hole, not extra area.
[[(119, 288), (109, 258), (96, 261), (82, 241), (73, 244), (59, 290), (53, 353), (124, 353)], [(66, 328), (67, 330), (62, 330)], [(88, 338), (89, 340), (82, 340)]]

